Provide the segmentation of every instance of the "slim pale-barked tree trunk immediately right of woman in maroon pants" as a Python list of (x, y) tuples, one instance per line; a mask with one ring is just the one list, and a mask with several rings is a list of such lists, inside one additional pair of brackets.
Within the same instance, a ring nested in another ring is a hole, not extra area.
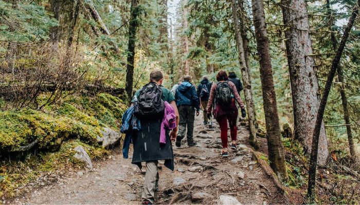
[(257, 142), (256, 142), (256, 127), (255, 127), (255, 109), (251, 102), (254, 100), (253, 95), (251, 94), (251, 84), (249, 83), (249, 76), (247, 73), (247, 67), (245, 63), (245, 55), (244, 55), (244, 47), (243, 47), (243, 40), (241, 37), (240, 32), (240, 25), (239, 25), (239, 17), (238, 17), (238, 10), (236, 7), (236, 0), (231, 0), (231, 10), (232, 10), (232, 21), (233, 21), (233, 27), (235, 30), (235, 40), (236, 45), (239, 51), (239, 63), (241, 65), (241, 74), (243, 78), (243, 84), (244, 84), (244, 94), (245, 94), (245, 101), (246, 101), (246, 109), (247, 109), (247, 115), (249, 119), (249, 128), (250, 128), (250, 136), (249, 136), (249, 142), (252, 146), (257, 148)]

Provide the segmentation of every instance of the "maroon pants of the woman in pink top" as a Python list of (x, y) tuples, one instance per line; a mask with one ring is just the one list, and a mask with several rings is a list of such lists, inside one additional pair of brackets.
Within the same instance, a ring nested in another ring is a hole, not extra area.
[(236, 127), (237, 118), (238, 111), (231, 111), (217, 118), (220, 126), (220, 136), (223, 148), (227, 148), (227, 121), (229, 121), (231, 140), (236, 140), (236, 135), (238, 134), (238, 128)]

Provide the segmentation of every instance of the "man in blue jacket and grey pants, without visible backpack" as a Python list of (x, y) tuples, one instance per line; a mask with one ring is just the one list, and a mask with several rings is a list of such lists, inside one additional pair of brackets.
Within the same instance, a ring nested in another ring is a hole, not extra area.
[(194, 120), (195, 120), (195, 109), (196, 116), (200, 114), (200, 102), (197, 97), (196, 89), (191, 84), (190, 75), (184, 76), (184, 81), (179, 85), (175, 92), (176, 106), (179, 110), (180, 122), (179, 132), (176, 137), (176, 147), (181, 147), (181, 140), (185, 137), (187, 128), (187, 142), (188, 146), (196, 145), (193, 139)]

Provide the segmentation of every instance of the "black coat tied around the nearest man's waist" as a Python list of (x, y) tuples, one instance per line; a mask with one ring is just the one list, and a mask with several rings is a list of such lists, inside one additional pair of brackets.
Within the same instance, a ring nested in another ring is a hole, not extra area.
[(141, 169), (141, 162), (165, 160), (165, 166), (174, 171), (174, 155), (169, 132), (166, 144), (160, 144), (160, 125), (162, 119), (140, 119), (141, 129), (133, 137), (134, 154), (131, 163)]

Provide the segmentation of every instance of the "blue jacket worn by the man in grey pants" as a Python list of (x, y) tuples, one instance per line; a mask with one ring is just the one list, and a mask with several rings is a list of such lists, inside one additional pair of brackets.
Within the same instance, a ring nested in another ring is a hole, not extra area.
[(189, 105), (200, 110), (199, 97), (196, 94), (195, 87), (188, 81), (183, 81), (176, 89), (175, 100), (177, 106)]

